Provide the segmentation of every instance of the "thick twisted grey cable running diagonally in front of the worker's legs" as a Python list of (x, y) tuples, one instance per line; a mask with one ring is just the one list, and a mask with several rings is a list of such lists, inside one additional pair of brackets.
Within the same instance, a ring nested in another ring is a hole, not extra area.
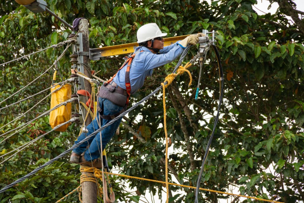
[[(191, 45), (188, 45), (185, 50), (183, 51), (183, 53), (181, 54), (182, 57), (185, 57), (186, 54), (184, 54), (185, 52), (188, 52), (188, 49)], [(178, 67), (178, 64), (181, 64), (181, 62), (183, 61), (184, 58), (180, 57), (176, 67)], [(175, 72), (178, 68), (174, 69), (173, 72)], [(165, 85), (168, 84), (168, 82), (164, 82)], [(133, 110), (134, 108), (136, 108), (138, 105), (140, 105), (141, 103), (143, 103), (144, 101), (148, 100), (151, 96), (153, 96), (155, 93), (157, 93), (160, 89), (162, 88), (162, 86), (157, 87), (152, 93), (150, 93), (148, 96), (144, 97), (142, 100), (140, 100), (139, 102), (137, 102), (136, 104), (134, 104), (132, 107), (130, 107), (128, 110), (126, 110), (125, 112), (123, 112), (122, 114), (120, 114), (119, 116), (117, 116), (116, 118), (112, 119), (109, 123), (105, 124), (103, 127), (99, 128), (97, 131), (95, 131), (94, 133), (92, 133), (91, 135), (88, 135), (86, 138), (84, 138), (83, 140), (81, 140), (80, 142), (78, 142), (77, 144), (73, 145), (70, 149), (67, 149), (66, 151), (62, 152), (60, 155), (56, 156), (54, 159), (51, 159), (50, 161), (44, 163), (43, 165), (37, 167), (36, 169), (34, 169), (32, 172), (28, 173), (27, 175), (15, 180), (14, 182), (12, 182), (11, 184), (3, 187), (0, 190), (0, 193), (8, 190), (9, 188), (13, 187), (14, 185), (16, 185), (17, 183), (22, 182), (23, 180), (25, 180), (26, 178), (32, 176), (33, 174), (35, 174), (37, 171), (41, 170), (42, 168), (44, 168), (45, 166), (48, 166), (52, 163), (54, 163), (55, 161), (57, 161), (58, 159), (62, 158), (64, 155), (66, 155), (67, 153), (71, 152), (73, 149), (77, 148), (79, 145), (81, 145), (83, 142), (86, 142), (88, 139), (90, 139), (92, 136), (96, 135), (98, 132), (102, 131), (104, 128), (108, 127), (109, 125), (111, 125), (113, 122), (115, 122), (117, 119), (119, 119), (120, 117), (123, 117), (124, 115), (126, 115), (127, 113), (129, 113), (131, 110)]]

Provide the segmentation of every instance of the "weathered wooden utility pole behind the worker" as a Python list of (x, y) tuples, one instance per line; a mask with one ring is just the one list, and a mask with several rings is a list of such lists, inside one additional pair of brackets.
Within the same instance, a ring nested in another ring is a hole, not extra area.
[[(90, 59), (89, 59), (89, 30), (88, 30), (88, 20), (81, 19), (79, 22), (79, 32), (77, 37), (77, 51), (79, 54), (80, 64), (78, 65), (78, 71), (83, 73), (89, 78), (92, 78)], [(79, 78), (80, 88), (87, 90), (90, 94), (92, 91), (91, 84), (84, 78)], [(86, 103), (88, 97), (79, 95), (79, 100)], [(91, 99), (93, 100), (93, 98)], [(90, 104), (89, 104), (90, 105)], [(89, 107), (90, 109), (91, 107)], [(87, 111), (85, 108), (81, 107), (82, 114), (85, 117)], [(88, 116), (85, 125), (87, 126), (92, 121), (91, 117)], [(91, 172), (81, 172), (82, 175), (94, 176)], [(97, 184), (91, 181), (84, 181), (82, 183), (82, 202), (84, 203), (97, 203)]]

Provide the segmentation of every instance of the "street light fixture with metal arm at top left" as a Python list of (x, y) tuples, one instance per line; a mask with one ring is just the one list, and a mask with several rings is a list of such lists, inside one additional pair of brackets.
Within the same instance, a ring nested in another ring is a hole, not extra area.
[(68, 28), (70, 28), (72, 31), (74, 31), (73, 26), (65, 22), (63, 19), (61, 19), (59, 16), (57, 16), (55, 13), (53, 13), (50, 9), (47, 8), (47, 2), (43, 0), (15, 0), (20, 5), (25, 6), (27, 9), (29, 9), (33, 13), (40, 13), (43, 11), (47, 11), (52, 16), (60, 20), (64, 25), (66, 25)]

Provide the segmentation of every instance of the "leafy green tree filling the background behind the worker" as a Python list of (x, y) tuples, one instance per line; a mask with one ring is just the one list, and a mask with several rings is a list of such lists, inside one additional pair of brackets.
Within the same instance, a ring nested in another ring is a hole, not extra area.
[[(136, 41), (136, 30), (148, 22), (157, 23), (168, 37), (216, 31), (225, 77), (223, 105), (216, 134), (204, 168), (201, 187), (227, 191), (239, 188), (240, 194), (284, 202), (304, 199), (304, 105), (303, 94), (303, 14), (290, 0), (272, 0), (280, 5), (275, 14), (257, 15), (255, 0), (212, 1), (47, 1), (50, 10), (68, 23), (85, 17), (90, 23), (90, 47), (111, 46)], [(47, 13), (34, 14), (16, 2), (0, 1), (0, 63), (64, 41), (71, 33)], [(288, 16), (295, 23), (288, 20)], [(193, 47), (185, 58), (196, 54)], [(45, 52), (2, 66), (0, 102), (29, 84), (50, 67), (63, 49)], [(69, 54), (58, 62), (62, 79), (70, 75)], [(98, 77), (109, 79), (119, 68), (123, 56), (91, 61)], [(218, 71), (215, 54), (209, 51), (202, 72), (201, 92), (194, 100), (199, 65), (190, 68), (193, 84), (181, 75), (167, 93), (167, 128), (173, 153), (169, 156), (169, 180), (195, 186), (206, 153), (218, 105)], [(171, 73), (176, 62), (154, 71), (145, 86), (131, 99), (134, 104), (156, 89)], [(42, 75), (19, 95), (1, 107), (47, 89), (53, 70)], [(10, 108), (1, 110), (0, 128), (29, 110), (48, 93), (41, 93)], [(164, 129), (161, 96), (156, 95), (131, 111), (107, 146), (108, 162), (126, 175), (165, 180)], [(14, 129), (48, 110), (49, 99), (39, 103), (17, 121), (1, 128)], [(140, 118), (139, 118), (140, 117)], [(16, 149), (38, 135), (50, 131), (48, 117), (41, 117), (0, 145), (0, 155)], [(51, 132), (2, 166), (1, 188), (69, 149), (79, 128)], [(1, 135), (0, 135), (1, 136)], [(0, 137), (0, 142), (6, 136)], [(144, 140), (144, 141), (143, 141)], [(6, 158), (8, 156), (5, 156)], [(2, 201), (54, 202), (79, 185), (78, 166), (68, 156), (57, 160), (18, 185), (0, 194)], [(174, 180), (175, 180), (174, 179)], [(146, 190), (160, 196), (162, 184), (112, 177), (120, 201), (137, 201)], [(124, 186), (128, 183), (130, 188)], [(136, 194), (126, 191), (136, 190)], [(194, 202), (194, 190), (170, 186), (171, 202)], [(218, 202), (230, 196), (201, 192), (199, 199)], [(77, 201), (77, 195), (67, 198)], [(234, 198), (233, 202), (250, 202)]]

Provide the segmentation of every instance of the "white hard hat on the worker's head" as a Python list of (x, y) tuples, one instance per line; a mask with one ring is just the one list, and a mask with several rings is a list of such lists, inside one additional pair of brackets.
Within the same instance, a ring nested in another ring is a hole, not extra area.
[(137, 30), (137, 43), (152, 40), (156, 37), (164, 37), (167, 33), (162, 33), (156, 23), (148, 23)]

